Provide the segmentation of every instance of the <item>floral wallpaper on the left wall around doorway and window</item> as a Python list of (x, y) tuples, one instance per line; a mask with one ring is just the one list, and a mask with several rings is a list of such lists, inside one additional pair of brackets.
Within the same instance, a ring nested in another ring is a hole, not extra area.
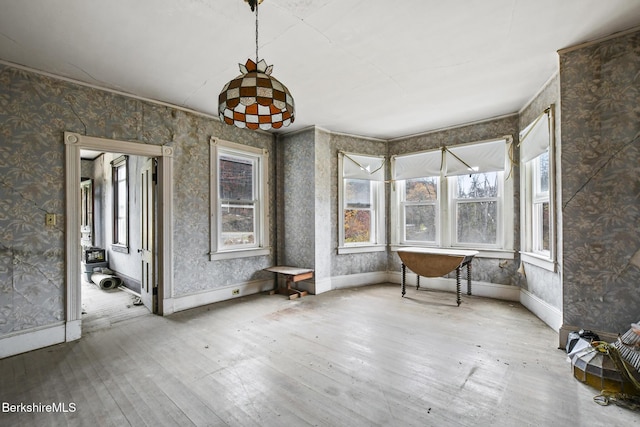
[[(272, 256), (208, 255), (209, 138), (273, 152), (270, 134), (6, 65), (0, 126), (0, 336), (65, 319), (64, 131), (174, 147), (174, 295), (272, 278), (261, 271)], [(275, 185), (270, 194), (275, 205)]]

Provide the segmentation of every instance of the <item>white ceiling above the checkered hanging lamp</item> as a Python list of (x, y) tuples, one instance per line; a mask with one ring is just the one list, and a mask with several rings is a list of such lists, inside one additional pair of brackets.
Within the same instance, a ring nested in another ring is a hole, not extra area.
[[(0, 0), (0, 60), (217, 116), (255, 59), (243, 0)], [(279, 132), (392, 139), (519, 111), (557, 50), (640, 25), (638, 0), (265, 0), (259, 53), (296, 101)]]

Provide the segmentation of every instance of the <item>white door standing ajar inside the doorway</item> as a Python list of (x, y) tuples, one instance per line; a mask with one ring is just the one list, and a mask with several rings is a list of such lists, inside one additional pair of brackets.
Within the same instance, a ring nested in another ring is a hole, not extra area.
[(142, 205), (142, 224), (140, 235), (142, 242), (140, 245), (142, 282), (140, 285), (140, 298), (142, 303), (152, 313), (158, 312), (158, 289), (155, 274), (155, 253), (154, 253), (154, 226), (155, 226), (155, 160), (147, 159), (142, 168), (142, 191), (140, 201)]

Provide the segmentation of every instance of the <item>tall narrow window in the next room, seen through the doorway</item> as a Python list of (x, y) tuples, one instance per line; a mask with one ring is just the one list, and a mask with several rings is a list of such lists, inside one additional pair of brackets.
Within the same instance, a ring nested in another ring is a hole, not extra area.
[(113, 249), (129, 251), (129, 184), (128, 156), (111, 162), (113, 179)]

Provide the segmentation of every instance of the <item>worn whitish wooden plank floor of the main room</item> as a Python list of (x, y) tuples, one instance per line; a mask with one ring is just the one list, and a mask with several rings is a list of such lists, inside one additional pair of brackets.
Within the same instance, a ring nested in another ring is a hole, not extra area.
[[(517, 303), (375, 285), (123, 320), (0, 360), (7, 426), (638, 426)], [(68, 408), (69, 406), (67, 406)]]

